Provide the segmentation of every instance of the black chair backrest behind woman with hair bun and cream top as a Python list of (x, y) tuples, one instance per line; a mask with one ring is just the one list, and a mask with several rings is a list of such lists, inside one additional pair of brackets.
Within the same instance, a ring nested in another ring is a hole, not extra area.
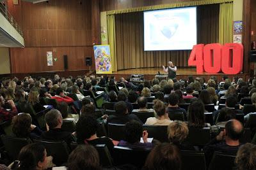
[(166, 125), (143, 125), (143, 131), (148, 132), (148, 138), (168, 142), (167, 127)]

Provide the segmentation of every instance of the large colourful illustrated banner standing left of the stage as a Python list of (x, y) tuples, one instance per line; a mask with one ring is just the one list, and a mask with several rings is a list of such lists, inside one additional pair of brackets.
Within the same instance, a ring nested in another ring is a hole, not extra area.
[(109, 45), (93, 46), (96, 74), (112, 74)]

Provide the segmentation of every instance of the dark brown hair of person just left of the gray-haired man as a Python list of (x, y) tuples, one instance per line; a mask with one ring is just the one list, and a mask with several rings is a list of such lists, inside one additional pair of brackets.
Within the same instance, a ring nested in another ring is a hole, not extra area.
[(13, 117), (12, 120), (12, 131), (18, 138), (28, 138), (30, 134), (30, 126), (32, 118), (28, 113), (22, 113)]

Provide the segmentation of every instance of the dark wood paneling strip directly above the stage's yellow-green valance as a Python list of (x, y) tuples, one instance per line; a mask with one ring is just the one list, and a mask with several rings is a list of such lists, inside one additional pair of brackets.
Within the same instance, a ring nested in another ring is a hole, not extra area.
[(100, 11), (122, 10), (125, 8), (136, 8), (141, 6), (152, 6), (157, 4), (170, 4), (196, 0), (101, 0)]

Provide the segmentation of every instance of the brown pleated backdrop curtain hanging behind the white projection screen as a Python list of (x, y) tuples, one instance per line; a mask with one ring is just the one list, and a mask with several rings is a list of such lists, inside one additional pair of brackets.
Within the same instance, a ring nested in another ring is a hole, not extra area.
[[(198, 43), (218, 43), (219, 11), (219, 4), (198, 6)], [(191, 50), (144, 51), (143, 12), (115, 15), (115, 27), (117, 70), (161, 67), (169, 60), (179, 67), (188, 66)]]

